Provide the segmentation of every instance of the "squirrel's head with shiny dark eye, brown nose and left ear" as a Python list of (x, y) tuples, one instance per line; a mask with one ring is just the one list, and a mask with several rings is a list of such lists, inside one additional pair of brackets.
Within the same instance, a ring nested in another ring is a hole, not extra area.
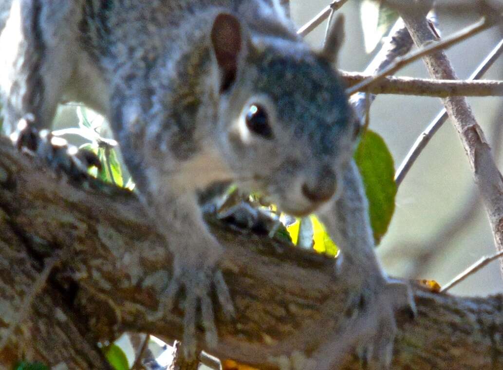
[(215, 139), (238, 186), (298, 216), (337, 197), (359, 126), (333, 58), (230, 14), (215, 18), (211, 43)]

